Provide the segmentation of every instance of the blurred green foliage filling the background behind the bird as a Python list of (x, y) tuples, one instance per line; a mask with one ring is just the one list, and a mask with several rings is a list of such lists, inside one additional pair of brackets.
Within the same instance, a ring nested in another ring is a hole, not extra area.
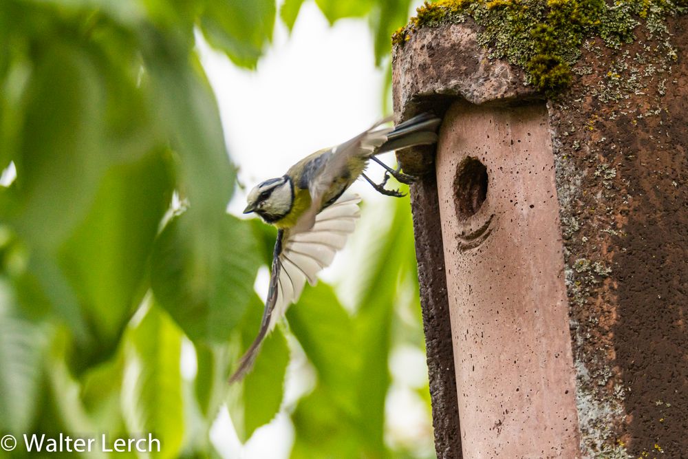
[[(235, 167), (195, 43), (255, 69), (302, 3), (0, 2), (0, 170), (16, 169), (0, 186), (0, 433), (150, 431), (158, 456), (213, 457), (223, 406), (241, 441), (283, 409), (294, 458), (409, 457), (385, 427), (391, 352), (422, 347), (407, 200), (359, 250), (354, 310), (307, 288), (255, 370), (226, 382), (275, 231), (226, 214)], [(378, 65), (409, 10), (316, 4), (330, 23), (367, 18)], [(294, 350), (314, 381), (286, 405)]]

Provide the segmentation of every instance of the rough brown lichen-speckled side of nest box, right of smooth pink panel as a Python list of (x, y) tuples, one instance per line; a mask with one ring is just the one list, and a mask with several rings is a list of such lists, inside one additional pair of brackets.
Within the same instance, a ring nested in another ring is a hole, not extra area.
[(588, 43), (549, 105), (586, 458), (688, 458), (688, 17), (668, 27), (673, 50)]

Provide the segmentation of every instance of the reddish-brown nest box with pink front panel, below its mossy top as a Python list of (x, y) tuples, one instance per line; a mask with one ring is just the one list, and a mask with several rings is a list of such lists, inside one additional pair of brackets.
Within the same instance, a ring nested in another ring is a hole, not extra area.
[(688, 457), (688, 17), (667, 31), (590, 39), (555, 98), (473, 21), (396, 45), (398, 119), (444, 116), (398, 157), (438, 458)]

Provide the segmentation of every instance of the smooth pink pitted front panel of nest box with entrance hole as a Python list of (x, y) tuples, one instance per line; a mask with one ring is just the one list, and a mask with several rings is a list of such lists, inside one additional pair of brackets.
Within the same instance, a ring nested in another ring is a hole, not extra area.
[[(486, 200), (458, 195), (466, 158)], [(544, 104), (453, 105), (437, 160), (465, 458), (579, 456), (555, 165)]]

